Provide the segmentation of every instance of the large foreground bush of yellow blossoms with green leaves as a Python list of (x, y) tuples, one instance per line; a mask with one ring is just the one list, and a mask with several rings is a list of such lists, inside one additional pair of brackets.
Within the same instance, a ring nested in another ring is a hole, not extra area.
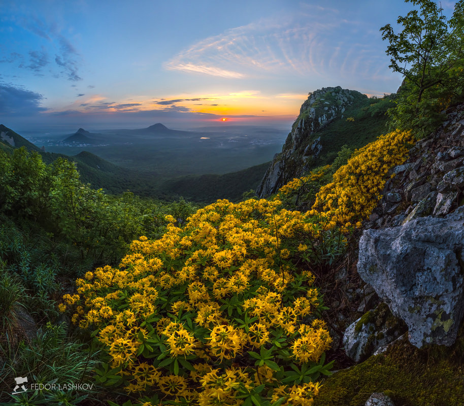
[[(279, 206), (218, 200), (183, 227), (170, 219), (157, 241), (134, 241), (119, 267), (76, 281), (78, 294), (64, 297), (72, 320), (99, 330), (128, 392), (241, 404), (247, 390), (263, 383), (272, 393), (290, 364), (316, 362), (329, 348), (324, 323), (311, 323), (319, 297), (302, 267), (314, 225)], [(281, 369), (256, 361), (255, 349), (274, 351)]]

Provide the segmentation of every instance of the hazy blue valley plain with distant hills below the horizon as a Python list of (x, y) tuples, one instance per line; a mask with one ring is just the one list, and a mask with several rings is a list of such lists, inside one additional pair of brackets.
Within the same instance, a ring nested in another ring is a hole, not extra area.
[(173, 178), (225, 174), (268, 162), (282, 149), (288, 128), (221, 123), (185, 131), (156, 123), (139, 129), (35, 131), (24, 137), (47, 152), (88, 151), (122, 167)]

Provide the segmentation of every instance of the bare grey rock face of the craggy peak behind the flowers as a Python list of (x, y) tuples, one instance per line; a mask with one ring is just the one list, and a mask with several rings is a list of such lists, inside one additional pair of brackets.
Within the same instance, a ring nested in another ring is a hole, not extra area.
[(300, 177), (308, 169), (308, 164), (322, 151), (318, 130), (336, 119), (342, 119), (348, 106), (367, 96), (355, 90), (337, 87), (323, 87), (309, 93), (300, 109), (300, 115), (292, 125), (291, 132), (282, 148), (276, 154), (256, 194), (259, 197), (275, 193), (280, 187), (295, 177)]

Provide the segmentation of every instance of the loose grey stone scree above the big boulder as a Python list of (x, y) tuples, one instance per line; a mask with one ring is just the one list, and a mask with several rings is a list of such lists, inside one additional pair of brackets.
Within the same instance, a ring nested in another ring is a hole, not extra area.
[(464, 105), (430, 138), (419, 141), (396, 166), (366, 228), (391, 227), (428, 215), (443, 217), (460, 204), (464, 190)]

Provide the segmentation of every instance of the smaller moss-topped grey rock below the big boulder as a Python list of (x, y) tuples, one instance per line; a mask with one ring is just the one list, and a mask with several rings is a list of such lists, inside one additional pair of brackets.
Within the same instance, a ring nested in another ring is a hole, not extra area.
[(343, 334), (343, 347), (351, 359), (364, 361), (405, 331), (404, 323), (391, 314), (385, 303), (380, 303), (348, 326)]

